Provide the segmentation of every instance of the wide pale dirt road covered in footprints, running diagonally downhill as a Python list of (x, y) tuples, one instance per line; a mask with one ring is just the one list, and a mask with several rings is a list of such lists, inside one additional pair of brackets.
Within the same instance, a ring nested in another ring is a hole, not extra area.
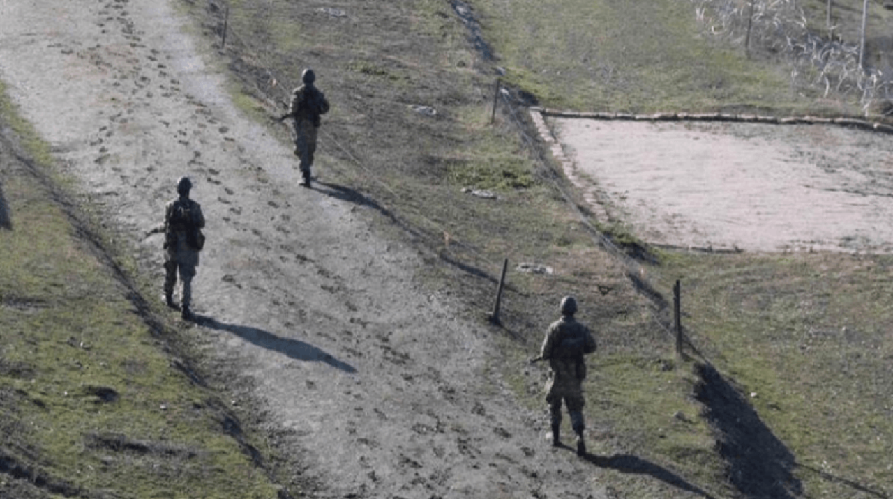
[(413, 281), (419, 257), (324, 172), (296, 186), (288, 145), (230, 104), (185, 26), (159, 0), (5, 0), (0, 79), (159, 291), (161, 237), (144, 235), (176, 179), (195, 180), (208, 244), (191, 330), (262, 401), (307, 492), (605, 496), (600, 470), (513, 403), (486, 329)]

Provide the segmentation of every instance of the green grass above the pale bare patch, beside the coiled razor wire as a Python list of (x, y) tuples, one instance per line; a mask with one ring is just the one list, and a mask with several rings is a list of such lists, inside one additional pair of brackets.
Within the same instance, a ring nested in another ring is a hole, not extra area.
[(817, 102), (816, 90), (792, 84), (786, 63), (751, 60), (743, 47), (714, 40), (689, 2), (482, 0), (476, 6), (506, 80), (548, 107), (858, 112), (846, 100)]

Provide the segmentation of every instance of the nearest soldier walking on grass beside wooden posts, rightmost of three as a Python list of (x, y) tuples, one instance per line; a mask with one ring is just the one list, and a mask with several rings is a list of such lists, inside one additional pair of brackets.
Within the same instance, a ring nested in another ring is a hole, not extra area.
[(589, 329), (577, 322), (577, 300), (565, 296), (561, 301), (562, 318), (555, 320), (546, 332), (546, 339), (537, 359), (549, 362), (549, 380), (546, 384), (546, 403), (552, 420), (552, 445), (561, 445), (561, 403), (567, 405), (571, 425), (577, 434), (577, 454), (586, 454), (583, 441), (583, 379), (586, 363), (583, 355), (596, 351), (596, 340)]

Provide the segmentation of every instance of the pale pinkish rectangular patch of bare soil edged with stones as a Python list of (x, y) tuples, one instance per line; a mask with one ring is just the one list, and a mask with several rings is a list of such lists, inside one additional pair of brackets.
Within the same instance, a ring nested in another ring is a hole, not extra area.
[(569, 177), (650, 244), (893, 251), (889, 136), (831, 125), (549, 122), (572, 159)]

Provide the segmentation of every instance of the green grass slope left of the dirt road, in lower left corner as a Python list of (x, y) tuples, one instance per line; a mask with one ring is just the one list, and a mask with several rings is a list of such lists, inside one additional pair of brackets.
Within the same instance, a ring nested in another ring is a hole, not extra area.
[(102, 247), (79, 236), (88, 219), (56, 201), (46, 145), (2, 87), (0, 120), (35, 159), (0, 148), (13, 223), (0, 229), (0, 453), (31, 476), (4, 474), (0, 495), (43, 496), (29, 485), (42, 480), (56, 494), (275, 497), (227, 434), (236, 419), (219, 395), (173, 369), (172, 330), (150, 328)]

